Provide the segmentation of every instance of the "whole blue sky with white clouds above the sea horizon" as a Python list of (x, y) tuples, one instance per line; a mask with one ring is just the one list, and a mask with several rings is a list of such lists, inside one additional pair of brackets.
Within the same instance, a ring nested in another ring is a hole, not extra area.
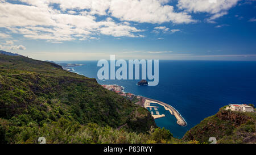
[(0, 49), (53, 61), (256, 61), (255, 12), (255, 0), (0, 0)]

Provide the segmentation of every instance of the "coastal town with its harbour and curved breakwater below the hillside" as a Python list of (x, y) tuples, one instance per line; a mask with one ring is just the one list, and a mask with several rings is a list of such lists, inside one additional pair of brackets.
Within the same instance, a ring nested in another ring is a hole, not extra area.
[[(134, 104), (138, 104), (139, 106), (146, 108), (148, 111), (151, 112), (151, 115), (154, 119), (163, 118), (166, 116), (164, 114), (160, 114), (160, 112), (158, 111), (159, 106), (163, 106), (166, 111), (169, 111), (171, 115), (175, 116), (175, 118), (177, 119), (177, 124), (181, 126), (187, 125), (187, 122), (185, 122), (185, 119), (179, 114), (179, 112), (174, 107), (170, 106), (167, 103), (163, 103), (163, 102), (160, 102), (159, 100), (154, 100), (154, 99), (150, 99), (142, 96), (137, 96), (131, 93), (125, 93), (123, 91), (122, 86), (118, 86), (118, 85), (102, 85), (102, 86), (105, 89), (114, 91), (115, 93), (121, 95), (122, 97), (125, 97), (126, 99), (131, 100), (131, 102), (133, 102)], [(152, 104), (158, 104), (158, 106), (155, 106)], [(152, 111), (152, 109), (154, 109), (155, 114)]]

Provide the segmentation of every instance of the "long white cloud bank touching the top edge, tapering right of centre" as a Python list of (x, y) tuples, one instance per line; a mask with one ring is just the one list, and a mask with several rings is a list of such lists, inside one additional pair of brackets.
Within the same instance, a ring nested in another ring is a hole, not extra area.
[[(33, 6), (47, 7), (56, 3), (65, 11), (86, 10), (90, 15), (112, 15), (121, 20), (148, 23), (191, 23), (195, 22), (185, 12), (175, 12), (174, 7), (166, 5), (169, 0), (20, 0)], [(69, 12), (68, 11), (68, 12)], [(108, 11), (108, 12), (107, 12)]]

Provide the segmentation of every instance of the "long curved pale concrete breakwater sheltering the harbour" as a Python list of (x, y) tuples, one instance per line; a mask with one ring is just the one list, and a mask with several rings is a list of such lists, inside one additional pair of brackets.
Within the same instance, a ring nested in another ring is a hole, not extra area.
[[(169, 111), (171, 115), (175, 116), (175, 118), (177, 119), (177, 124), (179, 124), (181, 126), (187, 125), (187, 122), (185, 122), (185, 119), (179, 114), (179, 112), (174, 107), (170, 106), (169, 104), (160, 102), (159, 100), (146, 98), (146, 97), (142, 97), (142, 102), (144, 104), (144, 108), (151, 107), (150, 103), (156, 103), (156, 104), (159, 104), (160, 106), (163, 106), (165, 110)], [(163, 115), (156, 115), (156, 116), (163, 117)], [(158, 118), (158, 117), (156, 117), (156, 118)]]

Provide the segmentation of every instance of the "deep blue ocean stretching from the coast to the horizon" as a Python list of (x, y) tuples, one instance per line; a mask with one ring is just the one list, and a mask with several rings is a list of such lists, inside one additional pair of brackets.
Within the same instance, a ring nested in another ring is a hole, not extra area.
[[(62, 61), (86, 64), (74, 72), (97, 79), (97, 61)], [(176, 119), (159, 107), (165, 118), (156, 119), (159, 127), (170, 129), (175, 137), (201, 120), (216, 114), (229, 103), (256, 104), (256, 62), (253, 61), (159, 61), (159, 85), (137, 86), (139, 80), (98, 80), (100, 84), (117, 84), (125, 92), (168, 103), (186, 120), (188, 125), (177, 125)]]

